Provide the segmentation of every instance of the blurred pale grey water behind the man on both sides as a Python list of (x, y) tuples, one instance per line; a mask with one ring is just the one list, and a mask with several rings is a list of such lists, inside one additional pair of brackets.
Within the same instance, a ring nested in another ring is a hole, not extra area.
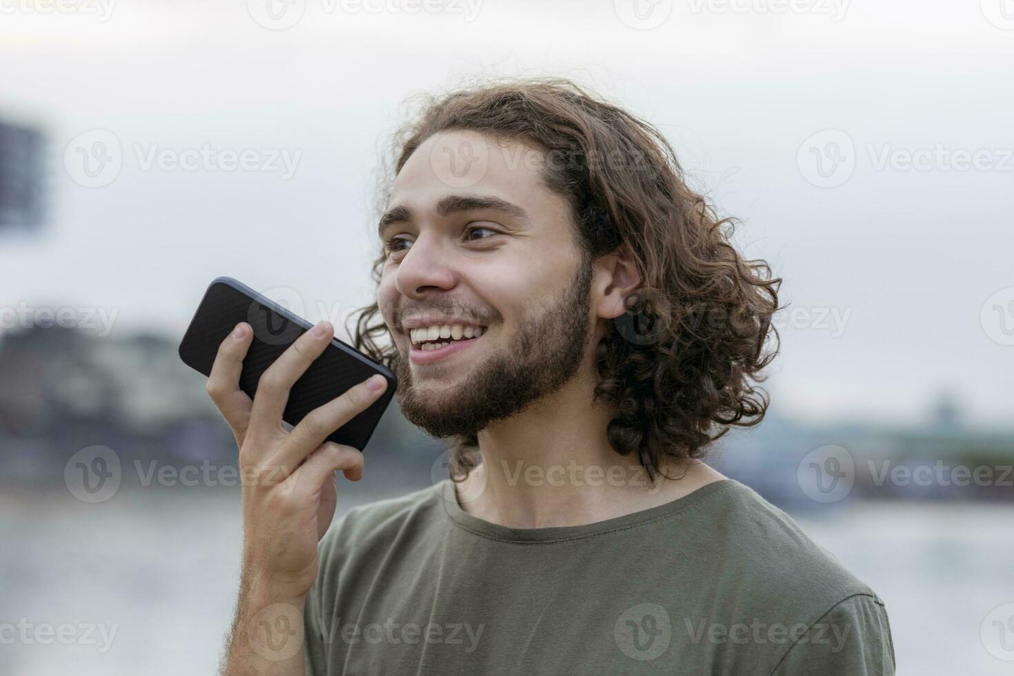
[[(340, 512), (405, 489), (350, 491)], [(372, 491), (372, 493), (370, 492)], [(910, 674), (1009, 674), (980, 627), (1014, 601), (1014, 507), (863, 504), (797, 517), (887, 604)], [(232, 615), (241, 537), (235, 491), (0, 496), (0, 622), (116, 625), (108, 649), (0, 645), (4, 674), (214, 673)]]

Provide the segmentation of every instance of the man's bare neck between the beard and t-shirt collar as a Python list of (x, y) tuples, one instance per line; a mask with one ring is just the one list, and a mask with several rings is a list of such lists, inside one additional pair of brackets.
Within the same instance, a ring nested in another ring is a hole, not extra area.
[(456, 486), (462, 509), (509, 528), (595, 523), (676, 500), (724, 478), (700, 461), (669, 460), (653, 481), (609, 445), (613, 410), (594, 403), (582, 370), (552, 395), (479, 434), (482, 463)]

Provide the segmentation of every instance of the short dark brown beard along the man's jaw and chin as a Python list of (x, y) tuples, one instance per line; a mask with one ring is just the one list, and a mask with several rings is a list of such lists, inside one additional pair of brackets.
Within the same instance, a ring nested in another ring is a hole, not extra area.
[(402, 415), (436, 438), (476, 435), (560, 389), (584, 361), (591, 332), (591, 268), (582, 257), (560, 297), (526, 317), (514, 335), (506, 336), (507, 348), (476, 365), (464, 382), (447, 387), (443, 396), (420, 392), (408, 360), (399, 353), (392, 366)]

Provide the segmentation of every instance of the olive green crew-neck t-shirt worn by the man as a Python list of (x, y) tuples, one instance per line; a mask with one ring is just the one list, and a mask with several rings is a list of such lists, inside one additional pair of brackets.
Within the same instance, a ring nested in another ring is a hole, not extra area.
[(476, 518), (449, 479), (324, 536), (306, 672), (893, 674), (883, 602), (733, 479), (581, 526)]

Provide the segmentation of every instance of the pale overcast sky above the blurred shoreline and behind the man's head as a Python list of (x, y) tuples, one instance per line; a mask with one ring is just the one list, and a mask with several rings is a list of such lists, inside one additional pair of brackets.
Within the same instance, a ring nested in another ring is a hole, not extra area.
[[(0, 234), (0, 307), (178, 336), (229, 275), (341, 318), (372, 292), (400, 102), (564, 75), (659, 126), (784, 278), (780, 412), (918, 422), (949, 389), (1014, 420), (1005, 1), (0, 0), (0, 119), (49, 142), (47, 225)], [(119, 161), (88, 175), (102, 148)]]

